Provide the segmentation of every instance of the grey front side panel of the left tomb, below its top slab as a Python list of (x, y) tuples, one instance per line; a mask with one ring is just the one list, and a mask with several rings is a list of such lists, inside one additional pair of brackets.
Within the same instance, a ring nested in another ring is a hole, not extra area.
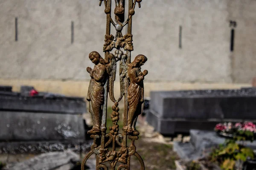
[(81, 115), (2, 111), (0, 116), (0, 141), (84, 139)]

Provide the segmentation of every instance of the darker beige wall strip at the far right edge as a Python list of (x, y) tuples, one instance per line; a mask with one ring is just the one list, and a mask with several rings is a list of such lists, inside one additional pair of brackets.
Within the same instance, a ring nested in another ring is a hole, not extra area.
[(232, 60), (233, 82), (256, 77), (256, 0), (229, 0), (228, 20), (237, 22)]

